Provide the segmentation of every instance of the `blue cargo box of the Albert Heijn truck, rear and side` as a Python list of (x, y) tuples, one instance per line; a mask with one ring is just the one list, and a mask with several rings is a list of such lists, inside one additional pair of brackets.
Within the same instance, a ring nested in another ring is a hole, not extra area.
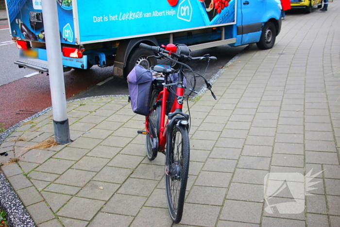
[[(37, 36), (43, 27), (34, 26), (35, 13), (42, 14), (41, 0), (7, 0), (11, 31), (20, 38), (32, 37), (19, 30), (19, 19)], [(119, 40), (146, 35), (158, 35), (199, 28), (234, 24), (235, 0), (229, 2), (220, 14), (207, 12), (205, 3), (199, 0), (182, 0), (171, 6), (166, 0), (73, 0), (64, 6), (58, 0), (58, 18), (62, 43), (85, 44), (108, 40)], [(148, 3), (149, 2), (149, 3)], [(119, 7), (118, 7), (119, 6)], [(208, 9), (209, 10), (209, 9)], [(31, 17), (32, 16), (32, 17)], [(19, 22), (20, 23), (20, 22)], [(38, 41), (43, 41), (38, 38)]]

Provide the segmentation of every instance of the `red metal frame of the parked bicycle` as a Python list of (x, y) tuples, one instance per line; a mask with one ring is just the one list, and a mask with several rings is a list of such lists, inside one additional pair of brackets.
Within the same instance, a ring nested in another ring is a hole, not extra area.
[[(165, 75), (165, 85), (168, 83), (169, 75)], [(178, 120), (188, 120), (188, 115), (183, 113), (183, 96), (184, 96), (184, 87), (183, 87), (183, 74), (180, 71), (178, 74), (178, 81), (180, 82), (176, 88), (176, 96), (175, 100), (171, 106), (170, 113), (168, 114), (168, 120), (166, 121), (166, 108), (167, 108), (167, 100), (169, 97), (169, 90), (167, 86), (163, 87), (163, 90), (158, 93), (158, 96), (155, 100), (155, 103), (157, 103), (159, 100), (161, 101), (161, 118), (160, 118), (160, 130), (158, 132), (158, 151), (164, 151), (165, 146), (167, 144), (167, 129), (168, 125), (172, 125), (172, 122), (178, 121)], [(181, 83), (182, 82), (182, 83)], [(176, 97), (181, 97), (180, 99), (176, 99)], [(180, 115), (180, 118), (174, 118), (175, 115)], [(149, 116), (146, 117), (145, 121), (145, 129), (148, 133), (148, 125), (149, 125)], [(170, 122), (169, 122), (170, 120)]]

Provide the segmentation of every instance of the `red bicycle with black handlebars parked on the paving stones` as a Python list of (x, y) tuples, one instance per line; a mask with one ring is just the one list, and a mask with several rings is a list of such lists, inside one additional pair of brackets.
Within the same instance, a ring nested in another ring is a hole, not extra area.
[[(166, 156), (165, 188), (168, 208), (172, 221), (179, 223), (183, 214), (190, 157), (188, 136), (190, 112), (186, 114), (182, 110), (186, 98), (184, 72), (190, 71), (194, 79), (193, 88), (187, 96), (195, 92), (196, 77), (201, 76), (186, 62), (189, 60), (209, 62), (216, 60), (216, 57), (208, 54), (191, 57), (189, 48), (183, 44), (155, 47), (141, 43), (139, 47), (155, 52), (154, 57), (158, 59), (170, 60), (172, 66), (179, 65), (177, 70), (170, 65), (156, 65), (150, 69), (153, 72), (153, 83), (149, 114), (145, 119), (146, 131), (138, 131), (139, 134), (147, 136), (146, 150), (150, 160), (157, 157), (158, 152)], [(211, 85), (205, 79), (204, 81), (211, 91)], [(211, 93), (216, 99), (212, 91)]]

